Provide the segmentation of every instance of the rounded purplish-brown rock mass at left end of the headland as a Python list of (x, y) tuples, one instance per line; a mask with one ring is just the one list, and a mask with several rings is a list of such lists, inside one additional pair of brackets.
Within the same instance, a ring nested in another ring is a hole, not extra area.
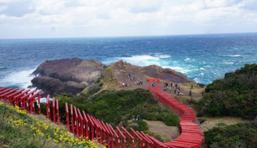
[(93, 59), (78, 58), (45, 61), (34, 72), (32, 87), (42, 89), (44, 94), (61, 92), (76, 95), (101, 77), (106, 66)]

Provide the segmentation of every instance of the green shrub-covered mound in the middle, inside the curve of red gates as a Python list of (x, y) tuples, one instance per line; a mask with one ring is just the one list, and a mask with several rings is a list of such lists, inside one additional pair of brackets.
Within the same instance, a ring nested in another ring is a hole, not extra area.
[[(161, 120), (170, 126), (177, 126), (179, 122), (176, 114), (158, 105), (158, 101), (143, 89), (104, 90), (94, 96), (89, 97), (88, 94), (81, 94), (76, 98), (68, 94), (62, 94), (56, 96), (56, 99), (59, 99), (61, 114), (65, 114), (65, 102), (67, 102), (115, 126), (131, 119), (132, 115), (136, 117), (139, 114), (144, 119)], [(63, 120), (65, 120), (65, 117), (63, 117)]]

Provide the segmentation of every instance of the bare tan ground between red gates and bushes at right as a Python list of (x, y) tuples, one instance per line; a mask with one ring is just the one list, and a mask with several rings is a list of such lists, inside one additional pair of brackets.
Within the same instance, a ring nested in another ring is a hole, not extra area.
[(203, 132), (208, 131), (213, 127), (218, 127), (218, 123), (224, 123), (226, 125), (236, 124), (239, 122), (251, 122), (250, 120), (244, 120), (241, 117), (224, 116), (224, 117), (197, 117), (206, 119), (204, 123), (200, 125)]

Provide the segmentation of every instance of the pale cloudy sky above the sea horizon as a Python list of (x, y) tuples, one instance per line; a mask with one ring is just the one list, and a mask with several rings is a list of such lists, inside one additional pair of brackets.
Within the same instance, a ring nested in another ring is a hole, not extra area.
[(257, 0), (0, 0), (0, 38), (257, 32)]

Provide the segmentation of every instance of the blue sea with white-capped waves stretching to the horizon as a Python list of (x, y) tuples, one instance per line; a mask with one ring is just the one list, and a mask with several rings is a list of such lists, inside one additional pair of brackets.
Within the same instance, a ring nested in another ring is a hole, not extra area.
[(257, 33), (0, 39), (0, 86), (27, 87), (30, 74), (44, 61), (73, 57), (106, 65), (119, 59), (138, 66), (155, 64), (209, 84), (257, 63)]

